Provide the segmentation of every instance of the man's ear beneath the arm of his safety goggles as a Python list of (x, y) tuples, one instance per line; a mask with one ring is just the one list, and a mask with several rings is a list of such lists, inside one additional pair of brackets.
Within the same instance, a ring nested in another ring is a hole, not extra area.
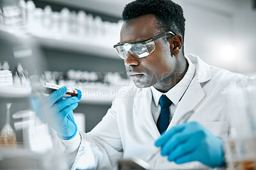
[(182, 47), (182, 36), (180, 34), (176, 34), (173, 37), (168, 39), (170, 43), (170, 52), (171, 55), (177, 56), (180, 53), (180, 49)]

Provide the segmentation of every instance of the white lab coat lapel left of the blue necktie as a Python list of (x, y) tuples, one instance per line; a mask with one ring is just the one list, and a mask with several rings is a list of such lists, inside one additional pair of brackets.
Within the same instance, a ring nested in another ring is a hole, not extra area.
[(152, 92), (150, 88), (140, 89), (134, 98), (134, 109), (141, 122), (147, 128), (154, 139), (159, 138), (160, 134), (154, 122), (151, 111)]

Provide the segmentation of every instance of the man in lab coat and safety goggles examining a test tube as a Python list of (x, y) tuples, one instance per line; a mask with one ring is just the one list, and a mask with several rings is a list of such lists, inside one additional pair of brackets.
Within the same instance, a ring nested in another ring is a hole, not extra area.
[(116, 97), (87, 134), (74, 122), (76, 97), (62, 100), (65, 87), (48, 97), (54, 113), (49, 124), (68, 165), (75, 169), (80, 159), (88, 167), (112, 169), (122, 158), (147, 161), (157, 146), (161, 155), (148, 162), (154, 169), (225, 166), (221, 138), (229, 128), (220, 92), (243, 76), (184, 55), (185, 18), (172, 1), (133, 1), (122, 17), (114, 47), (136, 85), (121, 89), (130, 95)]

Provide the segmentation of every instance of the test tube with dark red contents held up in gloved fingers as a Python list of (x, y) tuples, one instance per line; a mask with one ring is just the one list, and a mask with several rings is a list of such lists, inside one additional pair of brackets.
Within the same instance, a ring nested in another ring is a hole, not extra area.
[[(42, 86), (46, 89), (44, 93), (46, 94), (51, 94), (52, 92), (54, 92), (55, 90), (58, 90), (61, 88), (60, 85), (56, 85), (53, 83), (47, 83), (45, 81), (42, 81)], [(82, 98), (82, 92), (81, 90), (78, 89), (71, 89), (71, 88), (67, 88), (67, 93), (66, 95), (68, 96), (76, 96), (77, 99), (81, 99)]]

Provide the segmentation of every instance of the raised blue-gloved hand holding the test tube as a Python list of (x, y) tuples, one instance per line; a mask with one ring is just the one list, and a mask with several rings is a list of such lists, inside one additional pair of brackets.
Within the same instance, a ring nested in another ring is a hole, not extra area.
[(78, 106), (77, 97), (62, 96), (67, 92), (67, 87), (52, 92), (48, 97), (40, 96), (32, 99), (32, 106), (36, 115), (48, 123), (63, 139), (72, 139), (76, 136), (77, 125), (74, 120), (73, 110)]

